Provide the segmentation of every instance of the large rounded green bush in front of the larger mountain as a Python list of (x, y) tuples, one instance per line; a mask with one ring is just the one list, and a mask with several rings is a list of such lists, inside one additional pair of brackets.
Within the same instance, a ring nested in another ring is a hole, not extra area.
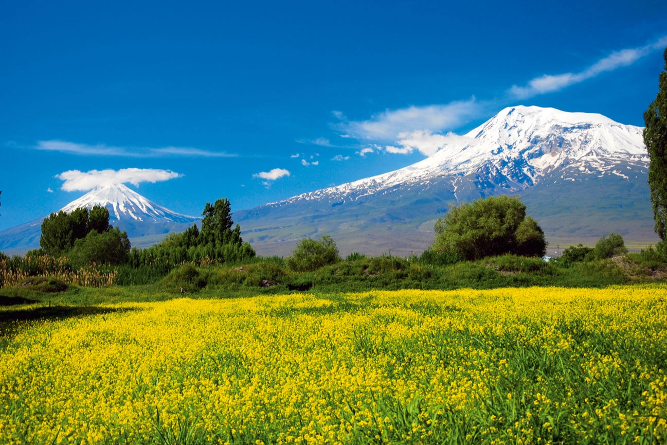
[(432, 250), (466, 260), (546, 252), (544, 232), (534, 219), (526, 218), (526, 205), (518, 197), (492, 196), (452, 205), (444, 218), (438, 218), (435, 230)]

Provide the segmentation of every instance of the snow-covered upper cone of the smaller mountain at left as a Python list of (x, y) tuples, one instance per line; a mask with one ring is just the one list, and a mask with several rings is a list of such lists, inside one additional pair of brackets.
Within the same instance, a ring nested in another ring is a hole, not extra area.
[(71, 201), (61, 210), (71, 213), (79, 207), (87, 209), (95, 205), (101, 205), (109, 209), (111, 219), (134, 219), (135, 221), (171, 221), (175, 223), (187, 223), (197, 221), (201, 218), (182, 215), (171, 211), (139, 195), (123, 184), (105, 185), (92, 189), (79, 199)]

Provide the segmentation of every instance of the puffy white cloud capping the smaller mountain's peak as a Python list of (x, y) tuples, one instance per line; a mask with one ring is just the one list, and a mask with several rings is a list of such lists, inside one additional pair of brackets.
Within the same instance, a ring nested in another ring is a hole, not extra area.
[(181, 177), (182, 175), (171, 170), (161, 170), (152, 168), (124, 168), (120, 170), (91, 170), (79, 171), (68, 170), (63, 171), (59, 175), (55, 175), (58, 179), (65, 181), (61, 189), (65, 191), (88, 191), (95, 187), (103, 187), (105, 185), (115, 185), (122, 183), (131, 183), (136, 187), (141, 182), (160, 182)]

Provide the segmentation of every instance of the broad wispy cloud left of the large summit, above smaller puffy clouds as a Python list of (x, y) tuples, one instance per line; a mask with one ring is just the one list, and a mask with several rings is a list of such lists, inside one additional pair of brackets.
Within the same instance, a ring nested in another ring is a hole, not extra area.
[(455, 101), (444, 105), (408, 107), (387, 110), (366, 121), (341, 122), (336, 128), (356, 139), (396, 140), (400, 133), (429, 129), (443, 131), (478, 117), (482, 106), (473, 97), (467, 101)]

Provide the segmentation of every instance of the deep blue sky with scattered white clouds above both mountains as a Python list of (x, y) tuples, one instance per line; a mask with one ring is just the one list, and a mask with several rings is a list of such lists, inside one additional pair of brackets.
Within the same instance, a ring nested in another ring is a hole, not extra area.
[(456, 3), (2, 2), (0, 230), (109, 175), (182, 213), (249, 208), (508, 105), (643, 125), (667, 2)]

